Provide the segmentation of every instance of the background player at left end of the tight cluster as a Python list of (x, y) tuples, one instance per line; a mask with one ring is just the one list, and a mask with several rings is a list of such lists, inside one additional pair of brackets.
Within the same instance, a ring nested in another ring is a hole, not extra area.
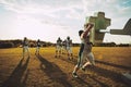
[(55, 58), (57, 58), (57, 57), (61, 57), (61, 44), (62, 44), (62, 40), (61, 40), (61, 38), (60, 37), (58, 37), (58, 39), (57, 39), (57, 44), (56, 44), (56, 55), (55, 55)]

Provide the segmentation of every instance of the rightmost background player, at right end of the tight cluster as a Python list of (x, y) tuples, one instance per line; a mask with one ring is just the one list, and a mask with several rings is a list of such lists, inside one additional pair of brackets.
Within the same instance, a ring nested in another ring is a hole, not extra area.
[(70, 37), (67, 37), (67, 52), (68, 52), (68, 59), (69, 60), (73, 60), (73, 53), (72, 53), (72, 40), (70, 39)]

